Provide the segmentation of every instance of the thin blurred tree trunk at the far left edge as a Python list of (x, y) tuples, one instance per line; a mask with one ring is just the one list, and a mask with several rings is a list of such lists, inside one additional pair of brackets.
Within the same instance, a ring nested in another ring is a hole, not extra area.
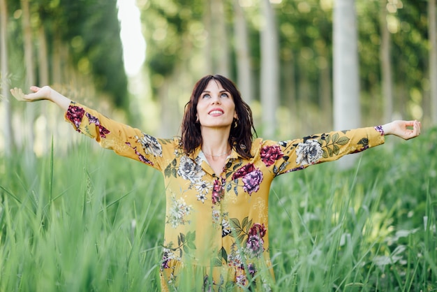
[(4, 141), (4, 153), (5, 156), (10, 156), (12, 153), (14, 139), (12, 131), (12, 115), (9, 102), (9, 82), (8, 82), (8, 9), (6, 5), (6, 0), (0, 0), (0, 63), (1, 63), (1, 74), (0, 74), (0, 88), (1, 88), (1, 106), (3, 110), (3, 141)]

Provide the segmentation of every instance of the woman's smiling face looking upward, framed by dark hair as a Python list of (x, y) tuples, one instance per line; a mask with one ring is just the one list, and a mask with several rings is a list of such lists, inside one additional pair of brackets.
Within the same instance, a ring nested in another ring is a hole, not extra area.
[(232, 95), (217, 80), (209, 81), (200, 94), (197, 105), (197, 118), (200, 126), (209, 128), (227, 128), (237, 119)]

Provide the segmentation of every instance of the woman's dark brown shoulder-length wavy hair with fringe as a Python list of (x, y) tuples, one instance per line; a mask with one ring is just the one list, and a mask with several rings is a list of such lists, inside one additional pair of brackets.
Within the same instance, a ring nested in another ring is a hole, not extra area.
[[(230, 147), (235, 147), (235, 151), (246, 159), (253, 157), (251, 147), (256, 131), (253, 126), (251, 108), (243, 101), (234, 82), (222, 75), (207, 75), (194, 85), (190, 101), (185, 105), (184, 119), (182, 119), (182, 149), (184, 149), (186, 154), (191, 154), (197, 147), (202, 145), (200, 123), (196, 122), (197, 106), (200, 94), (202, 94), (211, 80), (219, 82), (223, 89), (232, 95), (235, 103), (235, 112), (237, 112), (238, 120), (234, 119), (234, 123), (230, 127), (228, 140)], [(235, 122), (237, 122), (237, 126), (235, 126)]]

